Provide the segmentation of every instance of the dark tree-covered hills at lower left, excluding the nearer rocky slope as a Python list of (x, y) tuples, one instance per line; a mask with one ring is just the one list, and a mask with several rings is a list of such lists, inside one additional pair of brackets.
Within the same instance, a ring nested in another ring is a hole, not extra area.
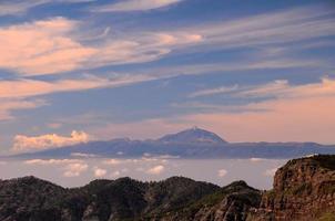
[(24, 177), (0, 181), (0, 220), (132, 220), (183, 207), (217, 189), (182, 177), (161, 182), (95, 180), (74, 189)]

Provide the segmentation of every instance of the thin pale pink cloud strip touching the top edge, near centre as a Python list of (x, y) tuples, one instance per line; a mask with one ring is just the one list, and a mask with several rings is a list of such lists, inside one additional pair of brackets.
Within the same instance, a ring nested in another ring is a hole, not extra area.
[(122, 0), (115, 3), (95, 7), (94, 12), (112, 12), (112, 11), (146, 11), (168, 7), (182, 0)]

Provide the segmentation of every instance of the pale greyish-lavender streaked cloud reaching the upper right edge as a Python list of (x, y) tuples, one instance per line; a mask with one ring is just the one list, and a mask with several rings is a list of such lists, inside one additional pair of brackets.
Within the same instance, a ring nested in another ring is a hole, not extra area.
[(334, 35), (334, 17), (328, 17), (334, 13), (329, 8), (302, 7), (194, 29), (206, 39), (204, 43), (221, 48), (284, 43)]

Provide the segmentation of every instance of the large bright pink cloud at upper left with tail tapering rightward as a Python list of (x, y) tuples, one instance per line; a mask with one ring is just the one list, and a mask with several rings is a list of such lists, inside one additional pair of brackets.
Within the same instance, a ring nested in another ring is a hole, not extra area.
[(53, 18), (0, 28), (0, 67), (23, 75), (63, 73), (111, 64), (142, 63), (160, 59), (174, 48), (202, 41), (192, 32), (134, 33), (122, 39), (103, 39), (98, 45), (84, 45), (80, 22)]

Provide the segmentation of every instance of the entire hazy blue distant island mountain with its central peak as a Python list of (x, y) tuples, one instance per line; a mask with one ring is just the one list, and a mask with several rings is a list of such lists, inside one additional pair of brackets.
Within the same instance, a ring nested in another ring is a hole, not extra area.
[(13, 158), (71, 158), (83, 156), (138, 158), (296, 158), (335, 154), (334, 145), (315, 143), (227, 143), (214, 133), (191, 128), (156, 140), (113, 139), (20, 154)]

